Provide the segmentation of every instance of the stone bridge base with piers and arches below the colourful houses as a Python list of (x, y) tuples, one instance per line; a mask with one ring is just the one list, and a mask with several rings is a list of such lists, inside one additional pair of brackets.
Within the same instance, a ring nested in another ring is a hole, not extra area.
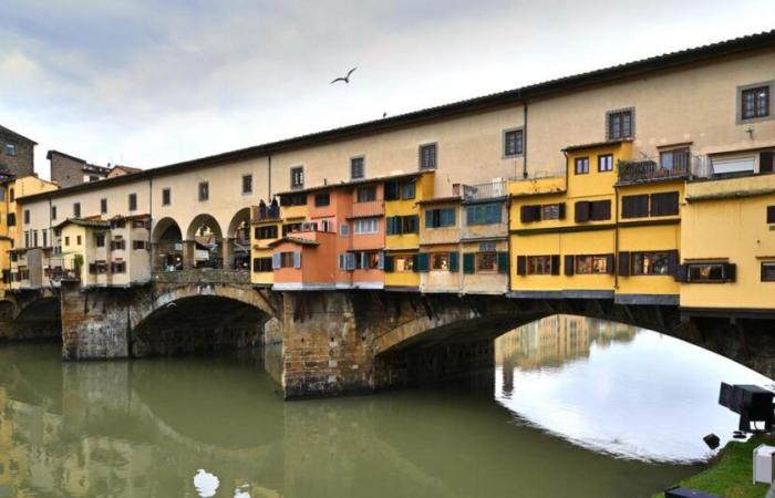
[(286, 397), (371, 392), (489, 367), (495, 338), (559, 313), (654, 330), (775, 374), (772, 321), (686, 317), (675, 305), (628, 305), (610, 299), (365, 290), (278, 293), (254, 288), (245, 273), (196, 270), (158, 273), (147, 284), (126, 289), (83, 289), (78, 281), (63, 281), (55, 293), (18, 294), (3, 305), (3, 323), (22, 331), (18, 338), (31, 336), (46, 317), (43, 335), (61, 324), (64, 360), (281, 343)]

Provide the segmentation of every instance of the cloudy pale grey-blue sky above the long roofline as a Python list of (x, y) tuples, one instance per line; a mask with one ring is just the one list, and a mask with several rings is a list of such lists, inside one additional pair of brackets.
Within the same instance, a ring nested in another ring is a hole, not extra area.
[(53, 148), (151, 168), (775, 29), (773, 0), (0, 6), (0, 124), (43, 177)]

